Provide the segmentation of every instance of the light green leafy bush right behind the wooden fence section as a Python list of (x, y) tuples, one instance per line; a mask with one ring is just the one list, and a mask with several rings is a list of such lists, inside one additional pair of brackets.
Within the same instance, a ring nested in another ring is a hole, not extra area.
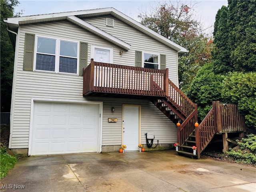
[(233, 72), (224, 79), (222, 97), (238, 105), (246, 125), (256, 128), (256, 72)]

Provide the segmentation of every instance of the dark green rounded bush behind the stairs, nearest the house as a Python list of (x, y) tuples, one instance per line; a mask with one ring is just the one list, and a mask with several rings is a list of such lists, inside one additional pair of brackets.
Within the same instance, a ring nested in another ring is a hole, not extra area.
[(212, 108), (212, 101), (220, 101), (223, 88), (223, 76), (213, 72), (213, 64), (205, 64), (196, 74), (191, 88), (188, 90), (188, 97), (198, 104), (198, 119), (203, 120)]

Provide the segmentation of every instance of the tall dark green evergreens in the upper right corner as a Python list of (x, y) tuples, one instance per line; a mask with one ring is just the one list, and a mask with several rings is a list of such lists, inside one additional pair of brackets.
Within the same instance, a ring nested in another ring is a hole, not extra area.
[(216, 14), (212, 52), (216, 74), (256, 71), (256, 1), (228, 1)]

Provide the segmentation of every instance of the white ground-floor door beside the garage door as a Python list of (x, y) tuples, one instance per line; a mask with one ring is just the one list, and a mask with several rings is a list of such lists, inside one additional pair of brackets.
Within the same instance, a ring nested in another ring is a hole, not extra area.
[(126, 151), (139, 150), (139, 106), (124, 106), (123, 144)]

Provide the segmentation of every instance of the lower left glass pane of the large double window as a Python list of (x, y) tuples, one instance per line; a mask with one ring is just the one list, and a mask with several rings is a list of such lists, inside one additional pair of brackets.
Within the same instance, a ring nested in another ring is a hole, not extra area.
[(55, 71), (55, 56), (36, 54), (36, 70)]

